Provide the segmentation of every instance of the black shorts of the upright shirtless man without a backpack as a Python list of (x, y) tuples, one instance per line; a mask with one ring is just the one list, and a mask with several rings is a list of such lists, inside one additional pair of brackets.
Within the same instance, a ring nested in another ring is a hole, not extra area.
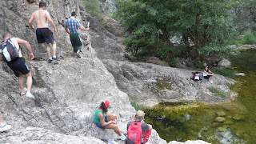
[(54, 34), (48, 28), (39, 28), (36, 31), (38, 43), (51, 43), (54, 42)]

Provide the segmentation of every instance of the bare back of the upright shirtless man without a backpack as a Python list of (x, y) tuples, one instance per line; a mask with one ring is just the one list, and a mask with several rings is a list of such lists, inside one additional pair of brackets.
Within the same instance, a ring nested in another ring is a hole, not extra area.
[[(35, 22), (37, 23), (37, 28), (47, 28), (48, 27), (48, 19), (50, 15), (47, 10), (36, 10), (32, 14)], [(51, 20), (51, 19), (50, 19)]]

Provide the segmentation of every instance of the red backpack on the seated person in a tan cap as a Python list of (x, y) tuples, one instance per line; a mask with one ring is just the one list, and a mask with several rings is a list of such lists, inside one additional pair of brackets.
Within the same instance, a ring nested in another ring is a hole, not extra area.
[(142, 122), (131, 122), (128, 132), (126, 144), (141, 144), (142, 142)]

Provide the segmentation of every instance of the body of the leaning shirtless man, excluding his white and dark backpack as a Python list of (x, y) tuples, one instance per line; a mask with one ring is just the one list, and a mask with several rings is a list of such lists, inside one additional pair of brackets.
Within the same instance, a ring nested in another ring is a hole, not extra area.
[[(34, 98), (34, 95), (31, 94), (32, 87), (32, 74), (30, 73), (29, 67), (26, 65), (25, 58), (22, 58), (22, 50), (19, 45), (25, 45), (26, 49), (29, 51), (30, 59), (34, 59), (34, 54), (32, 53), (30, 43), (21, 38), (12, 38), (9, 33), (2, 35), (3, 42), (10, 39), (11, 43), (14, 43), (15, 47), (18, 49), (18, 58), (11, 62), (6, 62), (11, 70), (14, 71), (16, 77), (18, 77), (18, 84), (22, 90), (21, 95), (26, 94), (28, 98)], [(1, 44), (2, 45), (2, 44)], [(26, 77), (26, 87), (27, 91), (24, 89), (24, 76)]]

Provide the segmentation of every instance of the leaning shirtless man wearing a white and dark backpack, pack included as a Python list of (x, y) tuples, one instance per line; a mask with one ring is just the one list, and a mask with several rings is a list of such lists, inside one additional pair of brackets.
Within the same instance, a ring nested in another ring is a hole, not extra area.
[[(28, 98), (34, 98), (31, 94), (32, 87), (32, 74), (30, 73), (29, 67), (26, 65), (25, 58), (22, 58), (21, 45), (25, 45), (29, 51), (30, 59), (34, 59), (30, 43), (21, 38), (12, 38), (10, 33), (3, 34), (3, 41), (1, 42), (0, 54), (2, 60), (7, 63), (11, 70), (14, 71), (16, 77), (18, 77), (18, 84), (22, 90), (21, 95), (26, 94)], [(26, 88), (24, 88), (24, 76), (26, 77)]]

